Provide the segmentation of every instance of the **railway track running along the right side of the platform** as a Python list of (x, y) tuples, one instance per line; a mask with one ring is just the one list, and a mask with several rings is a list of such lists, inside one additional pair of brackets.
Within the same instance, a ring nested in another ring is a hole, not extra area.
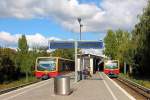
[(147, 100), (150, 100), (150, 89), (149, 88), (143, 87), (133, 81), (130, 81), (130, 80), (122, 78), (122, 77), (118, 77), (116, 80), (121, 82), (122, 84), (128, 86), (129, 88), (131, 88), (138, 94), (142, 95)]

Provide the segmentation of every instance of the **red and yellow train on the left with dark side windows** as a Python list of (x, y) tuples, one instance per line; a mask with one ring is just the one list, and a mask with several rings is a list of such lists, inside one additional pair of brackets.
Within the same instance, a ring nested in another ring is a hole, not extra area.
[(74, 70), (74, 61), (60, 57), (38, 57), (36, 59), (35, 76), (47, 79)]

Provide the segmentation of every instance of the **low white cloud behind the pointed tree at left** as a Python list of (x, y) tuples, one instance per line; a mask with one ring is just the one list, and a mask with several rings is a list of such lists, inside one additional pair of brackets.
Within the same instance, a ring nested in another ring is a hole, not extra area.
[[(0, 46), (8, 47), (17, 47), (18, 39), (21, 37), (21, 34), (11, 34), (8, 32), (0, 32)], [(47, 46), (48, 40), (60, 40), (57, 37), (45, 37), (40, 33), (35, 33), (31, 35), (26, 35), (28, 45), (32, 46)]]

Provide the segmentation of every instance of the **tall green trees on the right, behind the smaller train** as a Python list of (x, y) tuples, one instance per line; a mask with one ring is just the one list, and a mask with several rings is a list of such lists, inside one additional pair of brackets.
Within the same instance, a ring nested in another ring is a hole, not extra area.
[(150, 76), (150, 0), (131, 33), (109, 30), (104, 54), (132, 66), (133, 74)]

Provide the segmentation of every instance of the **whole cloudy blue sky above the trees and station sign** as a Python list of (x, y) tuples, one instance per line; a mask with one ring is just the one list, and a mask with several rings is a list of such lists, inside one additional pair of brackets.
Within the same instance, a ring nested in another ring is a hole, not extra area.
[(147, 0), (0, 0), (0, 46), (30, 47), (48, 40), (103, 40), (107, 30), (131, 31)]

